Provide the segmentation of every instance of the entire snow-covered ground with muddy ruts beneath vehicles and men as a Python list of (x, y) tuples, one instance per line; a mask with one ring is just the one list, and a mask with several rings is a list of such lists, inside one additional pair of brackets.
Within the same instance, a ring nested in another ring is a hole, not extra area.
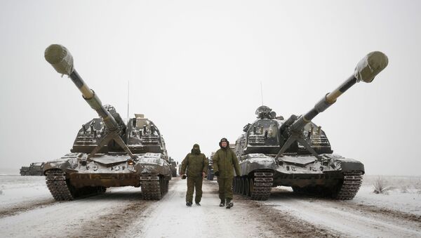
[(42, 177), (0, 176), (0, 237), (421, 237), (416, 193), (374, 197), (362, 188), (352, 201), (333, 201), (274, 188), (267, 201), (234, 195), (225, 209), (217, 191), (204, 180), (202, 206), (187, 207), (186, 181), (174, 178), (161, 201), (116, 187), (57, 202)]

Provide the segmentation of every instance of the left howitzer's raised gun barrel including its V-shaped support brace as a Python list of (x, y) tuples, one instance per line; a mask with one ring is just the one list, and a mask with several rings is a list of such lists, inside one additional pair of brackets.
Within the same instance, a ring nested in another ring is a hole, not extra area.
[(135, 155), (131, 153), (126, 143), (124, 143), (120, 137), (121, 129), (125, 127), (121, 117), (117, 112), (115, 112), (114, 107), (111, 110), (107, 110), (102, 105), (98, 95), (93, 90), (91, 90), (91, 88), (89, 88), (89, 86), (79, 76), (79, 74), (74, 69), (73, 56), (70, 54), (67, 48), (59, 44), (52, 44), (46, 48), (44, 57), (46, 58), (47, 62), (53, 66), (55, 71), (57, 71), (59, 74), (66, 74), (70, 79), (72, 79), (74, 85), (76, 85), (79, 91), (81, 91), (83, 99), (86, 100), (86, 103), (88, 103), (88, 105), (90, 105), (92, 109), (98, 113), (102, 121), (104, 121), (105, 126), (107, 126), (107, 136), (104, 138), (104, 140), (102, 140), (100, 145), (98, 145), (98, 147), (96, 147), (95, 150), (91, 152), (90, 157), (97, 153), (101, 147), (106, 145), (109, 140), (115, 140), (116, 143), (119, 144), (121, 148), (123, 148), (123, 150), (128, 153), (128, 155), (135, 159)]

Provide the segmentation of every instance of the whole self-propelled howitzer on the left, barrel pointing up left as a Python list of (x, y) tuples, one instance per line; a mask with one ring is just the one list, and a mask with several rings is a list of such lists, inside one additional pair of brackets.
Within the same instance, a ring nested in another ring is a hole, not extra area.
[(161, 199), (168, 191), (171, 169), (165, 141), (155, 124), (142, 114), (124, 123), (114, 107), (103, 106), (74, 70), (72, 55), (64, 46), (49, 46), (45, 58), (58, 73), (72, 79), (99, 115), (81, 126), (71, 153), (44, 165), (54, 199), (72, 200), (119, 186), (141, 187), (143, 199)]

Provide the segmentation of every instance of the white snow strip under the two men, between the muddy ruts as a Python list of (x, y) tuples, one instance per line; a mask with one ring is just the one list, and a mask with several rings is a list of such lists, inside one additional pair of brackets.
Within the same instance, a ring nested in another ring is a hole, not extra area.
[(244, 227), (244, 218), (250, 217), (248, 204), (234, 201), (232, 209), (220, 207), (216, 187), (216, 181), (204, 181), (201, 206), (187, 207), (186, 180), (176, 180), (163, 200), (149, 207), (148, 216), (140, 216), (123, 237), (276, 237), (269, 230), (248, 229), (260, 227), (260, 220), (250, 219)]

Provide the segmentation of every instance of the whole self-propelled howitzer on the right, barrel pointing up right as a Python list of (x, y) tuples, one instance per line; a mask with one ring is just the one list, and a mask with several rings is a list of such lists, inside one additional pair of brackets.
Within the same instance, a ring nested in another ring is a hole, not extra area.
[(234, 178), (234, 192), (266, 200), (271, 187), (282, 185), (295, 192), (353, 199), (361, 186), (363, 164), (333, 154), (326, 134), (312, 119), (357, 82), (373, 81), (387, 63), (385, 54), (369, 53), (349, 79), (300, 117), (284, 120), (269, 107), (259, 107), (255, 112), (258, 119), (244, 126), (243, 135), (236, 140), (242, 177)]

